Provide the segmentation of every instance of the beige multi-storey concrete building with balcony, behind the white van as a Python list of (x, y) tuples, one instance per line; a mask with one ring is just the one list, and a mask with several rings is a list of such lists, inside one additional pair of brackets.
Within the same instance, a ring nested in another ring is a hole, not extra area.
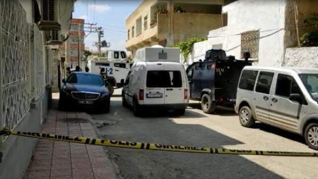
[[(233, 0), (144, 0), (126, 19), (126, 49), (171, 46), (190, 37), (206, 37), (226, 25), (222, 6)], [(223, 21), (224, 19), (224, 21)]]

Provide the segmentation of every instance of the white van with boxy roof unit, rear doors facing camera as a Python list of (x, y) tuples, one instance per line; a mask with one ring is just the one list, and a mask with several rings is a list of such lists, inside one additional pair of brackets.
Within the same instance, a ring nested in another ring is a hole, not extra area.
[[(123, 106), (132, 106), (135, 116), (143, 115), (146, 108), (174, 110), (183, 115), (189, 103), (188, 79), (181, 63), (168, 62), (169, 51), (179, 53), (179, 49), (156, 49), (151, 49), (151, 61), (147, 58), (147, 48), (141, 50), (142, 59), (135, 59), (122, 90)], [(153, 57), (158, 57), (157, 61)], [(170, 57), (171, 61), (177, 59)]]

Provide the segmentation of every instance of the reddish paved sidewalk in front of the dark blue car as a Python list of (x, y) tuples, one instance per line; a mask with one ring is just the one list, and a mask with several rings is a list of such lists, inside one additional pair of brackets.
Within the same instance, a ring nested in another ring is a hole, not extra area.
[[(43, 133), (96, 138), (90, 115), (50, 110)], [(25, 179), (115, 179), (102, 146), (39, 139)]]

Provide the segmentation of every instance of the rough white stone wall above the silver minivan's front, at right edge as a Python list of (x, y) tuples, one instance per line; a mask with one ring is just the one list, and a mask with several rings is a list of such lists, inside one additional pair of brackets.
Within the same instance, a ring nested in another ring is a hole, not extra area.
[(283, 66), (318, 68), (318, 47), (287, 48)]

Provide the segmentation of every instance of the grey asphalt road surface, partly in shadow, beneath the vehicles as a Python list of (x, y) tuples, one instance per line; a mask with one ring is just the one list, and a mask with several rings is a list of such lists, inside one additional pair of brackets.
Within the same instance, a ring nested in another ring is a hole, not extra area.
[[(312, 152), (301, 136), (257, 124), (244, 128), (233, 111), (204, 114), (191, 104), (182, 117), (153, 114), (136, 118), (121, 106), (120, 90), (110, 114), (93, 115), (108, 139), (233, 149)], [(159, 117), (158, 117), (159, 116)], [(105, 126), (100, 124), (104, 123)], [(318, 158), (191, 154), (108, 147), (124, 179), (317, 179)]]

